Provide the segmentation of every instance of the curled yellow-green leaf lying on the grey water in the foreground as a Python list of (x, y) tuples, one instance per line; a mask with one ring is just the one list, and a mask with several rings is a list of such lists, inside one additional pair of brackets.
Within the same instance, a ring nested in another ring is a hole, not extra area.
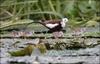
[[(19, 43), (19, 41), (15, 42), (15, 44), (17, 44), (17, 43)], [(15, 44), (13, 46), (15, 46)], [(11, 56), (16, 56), (16, 57), (17, 56), (26, 56), (26, 55), (31, 55), (32, 52), (35, 52), (34, 48), (38, 48), (41, 54), (44, 54), (47, 51), (46, 46), (44, 44), (40, 43), (40, 44), (37, 44), (37, 45), (29, 44), (27, 47), (24, 47), (21, 50), (9, 51), (8, 53)]]

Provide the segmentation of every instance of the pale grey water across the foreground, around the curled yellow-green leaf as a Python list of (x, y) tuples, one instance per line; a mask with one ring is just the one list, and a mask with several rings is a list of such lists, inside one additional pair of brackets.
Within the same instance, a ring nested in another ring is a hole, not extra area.
[[(40, 64), (100, 64), (100, 45), (78, 50), (48, 50), (43, 55), (33, 53), (31, 56), (11, 57), (7, 52), (16, 50), (11, 46), (16, 40), (18, 39), (1, 39), (0, 64), (35, 64), (37, 57)], [(23, 42), (17, 46), (24, 47), (23, 44), (34, 40), (20, 39), (20, 41)]]

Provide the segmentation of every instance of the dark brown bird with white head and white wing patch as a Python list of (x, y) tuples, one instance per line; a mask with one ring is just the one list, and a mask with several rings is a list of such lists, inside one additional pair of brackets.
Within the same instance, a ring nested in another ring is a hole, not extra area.
[(68, 18), (62, 18), (60, 20), (39, 20), (38, 23), (48, 28), (49, 32), (57, 39), (63, 36), (62, 30), (66, 26), (66, 22), (68, 22)]

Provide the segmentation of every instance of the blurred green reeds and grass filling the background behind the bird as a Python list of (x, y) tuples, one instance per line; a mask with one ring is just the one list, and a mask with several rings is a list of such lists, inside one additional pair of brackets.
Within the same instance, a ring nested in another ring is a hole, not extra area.
[(26, 22), (25, 19), (61, 19), (63, 17), (69, 19), (70, 27), (96, 25), (98, 24), (96, 21), (100, 21), (100, 1), (0, 0), (0, 29), (31, 23), (30, 20)]

